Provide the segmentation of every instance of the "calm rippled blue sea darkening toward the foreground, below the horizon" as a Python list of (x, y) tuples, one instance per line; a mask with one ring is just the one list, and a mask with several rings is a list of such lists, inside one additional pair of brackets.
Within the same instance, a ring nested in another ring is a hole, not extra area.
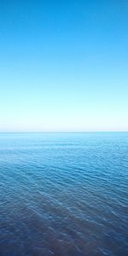
[(127, 256), (128, 133), (0, 134), (1, 256)]

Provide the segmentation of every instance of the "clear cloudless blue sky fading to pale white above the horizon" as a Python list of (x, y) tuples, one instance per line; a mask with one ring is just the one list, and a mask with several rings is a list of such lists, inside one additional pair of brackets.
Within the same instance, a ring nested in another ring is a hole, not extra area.
[(0, 131), (128, 131), (128, 1), (0, 0)]

